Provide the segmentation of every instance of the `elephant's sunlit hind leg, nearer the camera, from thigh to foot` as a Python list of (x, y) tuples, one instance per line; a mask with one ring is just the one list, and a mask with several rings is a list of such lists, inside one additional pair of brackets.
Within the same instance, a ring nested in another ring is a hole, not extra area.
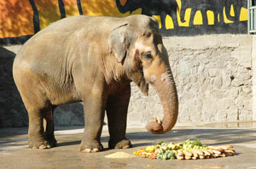
[(30, 70), (15, 71), (15, 83), (28, 112), (28, 142), (31, 149), (50, 148), (44, 138), (44, 115), (49, 111), (49, 101), (38, 76)]

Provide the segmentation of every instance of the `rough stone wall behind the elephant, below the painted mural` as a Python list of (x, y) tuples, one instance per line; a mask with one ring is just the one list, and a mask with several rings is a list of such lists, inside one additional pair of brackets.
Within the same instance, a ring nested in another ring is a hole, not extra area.
[[(252, 81), (253, 74), (256, 76), (252, 69), (255, 42), (255, 37), (247, 35), (164, 38), (177, 85), (179, 122), (256, 120), (256, 93), (252, 92), (253, 83), (256, 85)], [(11, 74), (19, 48), (0, 50), (0, 127), (27, 125), (26, 110)], [(131, 90), (128, 123), (146, 123), (153, 116), (162, 116), (153, 88), (148, 97), (134, 84)], [(55, 125), (82, 124), (82, 104), (61, 105), (55, 110)]]

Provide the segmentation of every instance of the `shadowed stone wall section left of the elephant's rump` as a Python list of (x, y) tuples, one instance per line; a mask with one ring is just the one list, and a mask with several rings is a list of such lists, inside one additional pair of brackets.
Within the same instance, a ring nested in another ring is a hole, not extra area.
[(11, 50), (0, 46), (0, 127), (27, 126), (27, 114), (15, 87), (12, 65), (20, 46)]

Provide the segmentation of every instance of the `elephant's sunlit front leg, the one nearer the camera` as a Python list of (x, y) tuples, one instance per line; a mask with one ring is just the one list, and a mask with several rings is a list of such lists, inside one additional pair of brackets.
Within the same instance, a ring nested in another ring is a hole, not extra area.
[(84, 135), (79, 150), (91, 153), (103, 149), (102, 126), (105, 113), (105, 99), (102, 94), (90, 95), (84, 99)]

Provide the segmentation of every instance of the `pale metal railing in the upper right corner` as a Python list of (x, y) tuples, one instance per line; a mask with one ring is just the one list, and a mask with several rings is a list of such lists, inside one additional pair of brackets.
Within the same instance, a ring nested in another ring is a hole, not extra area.
[(256, 33), (256, 6), (253, 6), (252, 0), (247, 0), (248, 21), (247, 28), (249, 34)]

